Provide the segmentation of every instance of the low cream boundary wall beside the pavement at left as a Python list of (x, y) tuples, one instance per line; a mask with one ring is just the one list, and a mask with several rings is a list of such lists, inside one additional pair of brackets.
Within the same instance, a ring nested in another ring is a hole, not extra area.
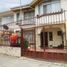
[(8, 47), (8, 46), (0, 46), (0, 53), (21, 57), (21, 48), (20, 47)]

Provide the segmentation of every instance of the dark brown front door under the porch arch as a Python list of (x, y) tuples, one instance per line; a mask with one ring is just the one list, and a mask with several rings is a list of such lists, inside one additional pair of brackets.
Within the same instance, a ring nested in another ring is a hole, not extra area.
[(41, 48), (48, 47), (48, 32), (41, 32)]

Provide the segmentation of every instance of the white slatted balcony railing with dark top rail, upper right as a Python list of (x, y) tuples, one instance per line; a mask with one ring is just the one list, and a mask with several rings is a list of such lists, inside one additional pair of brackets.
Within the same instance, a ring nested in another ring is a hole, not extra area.
[(36, 25), (61, 24), (64, 23), (64, 21), (67, 19), (66, 15), (67, 15), (66, 11), (44, 14), (38, 16)]

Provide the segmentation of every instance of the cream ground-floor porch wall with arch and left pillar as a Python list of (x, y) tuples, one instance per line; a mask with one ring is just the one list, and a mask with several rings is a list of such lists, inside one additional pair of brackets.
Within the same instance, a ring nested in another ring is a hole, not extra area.
[[(40, 48), (40, 45), (41, 45), (40, 33), (41, 33), (41, 31), (53, 32), (53, 41), (49, 41), (49, 37), (48, 37), (49, 47), (50, 47), (50, 45), (57, 47), (62, 44), (62, 37), (57, 35), (57, 31), (62, 31), (64, 33), (65, 27), (63, 24), (62, 25), (45, 26), (44, 30), (43, 30), (43, 27), (37, 28), (36, 29), (36, 49), (37, 49), (37, 51), (41, 51), (40, 50), (41, 49)], [(64, 47), (66, 47), (65, 36), (66, 36), (66, 34), (64, 33), (64, 35), (63, 35)]]

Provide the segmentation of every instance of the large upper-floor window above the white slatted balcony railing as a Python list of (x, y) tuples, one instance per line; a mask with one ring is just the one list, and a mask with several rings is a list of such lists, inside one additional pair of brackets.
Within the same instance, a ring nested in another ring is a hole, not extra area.
[(58, 12), (61, 10), (60, 0), (55, 1), (52, 0), (51, 2), (45, 3), (43, 5), (43, 13), (52, 13), (52, 12)]

